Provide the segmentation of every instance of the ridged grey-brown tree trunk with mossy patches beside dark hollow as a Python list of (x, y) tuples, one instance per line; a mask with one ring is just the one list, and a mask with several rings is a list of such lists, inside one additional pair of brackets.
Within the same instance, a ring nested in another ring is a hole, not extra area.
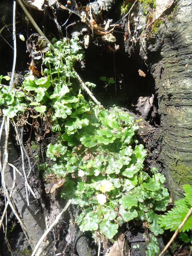
[(140, 54), (156, 82), (163, 136), (159, 160), (173, 199), (192, 181), (192, 3), (179, 0), (177, 6), (175, 18), (160, 26), (156, 44), (140, 37)]

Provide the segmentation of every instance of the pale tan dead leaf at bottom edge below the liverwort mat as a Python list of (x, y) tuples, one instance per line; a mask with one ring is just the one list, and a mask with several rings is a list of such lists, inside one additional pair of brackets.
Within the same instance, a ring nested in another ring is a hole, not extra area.
[(131, 256), (127, 241), (116, 240), (104, 256)]

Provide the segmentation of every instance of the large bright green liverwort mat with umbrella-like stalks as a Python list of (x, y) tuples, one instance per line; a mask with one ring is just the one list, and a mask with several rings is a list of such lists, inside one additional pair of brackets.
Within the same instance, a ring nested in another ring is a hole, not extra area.
[(55, 163), (40, 168), (65, 179), (61, 196), (80, 208), (75, 221), (83, 232), (112, 239), (119, 226), (134, 219), (162, 234), (156, 211), (165, 211), (170, 197), (163, 175), (154, 168), (152, 177), (143, 171), (146, 150), (132, 146), (137, 130), (133, 118), (116, 106), (109, 111), (84, 98), (73, 68), (84, 58), (78, 38), (55, 42), (53, 51), (48, 46), (45, 76), (25, 76), (22, 90), (9, 92), (1, 85), (3, 114), (14, 118), (31, 108), (34, 119), (49, 117), (56, 142), (48, 145), (47, 158)]

